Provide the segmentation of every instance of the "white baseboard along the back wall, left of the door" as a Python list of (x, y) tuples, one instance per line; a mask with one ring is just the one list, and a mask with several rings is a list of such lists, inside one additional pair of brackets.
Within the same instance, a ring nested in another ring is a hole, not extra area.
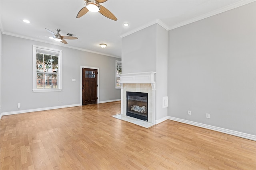
[(28, 110), (8, 111), (8, 112), (1, 113), (1, 116), (4, 116), (4, 115), (14, 115), (14, 114), (20, 114), (20, 113), (29, 113), (29, 112), (34, 112), (34, 111), (62, 109), (62, 108), (66, 108), (66, 107), (76, 107), (76, 106), (80, 106), (80, 104), (72, 104), (72, 105), (64, 105), (64, 106), (54, 106), (54, 107), (44, 107), (44, 108), (28, 109)]

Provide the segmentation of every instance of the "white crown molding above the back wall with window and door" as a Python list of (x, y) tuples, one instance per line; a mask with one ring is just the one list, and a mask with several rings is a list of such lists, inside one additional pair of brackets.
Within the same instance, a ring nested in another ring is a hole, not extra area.
[(67, 47), (67, 48), (70, 48), (70, 49), (76, 49), (76, 50), (80, 50), (80, 51), (86, 51), (86, 52), (89, 52), (89, 53), (95, 53), (95, 54), (99, 54), (99, 55), (106, 55), (106, 56), (109, 56), (109, 57), (115, 57), (115, 58), (119, 58), (121, 59), (122, 57), (119, 57), (119, 56), (114, 56), (114, 55), (110, 55), (110, 54), (106, 54), (106, 53), (99, 53), (97, 51), (92, 51), (92, 50), (88, 50), (88, 49), (82, 49), (82, 48), (78, 48), (78, 47), (73, 47), (71, 45), (62, 45), (60, 43), (52, 43), (52, 42), (49, 42), (49, 41), (43, 41), (43, 40), (39, 40), (39, 39), (35, 39), (35, 38), (30, 38), (30, 37), (26, 37), (26, 36), (21, 36), (21, 35), (17, 35), (17, 34), (13, 34), (13, 33), (9, 33), (9, 32), (4, 32), (2, 29), (1, 29), (1, 32), (2, 34), (5, 34), (5, 35), (10, 35), (10, 36), (14, 36), (14, 37), (19, 37), (19, 38), (24, 38), (24, 39), (29, 39), (29, 40), (32, 40), (32, 41), (38, 41), (38, 42), (41, 42), (41, 43), (47, 43), (47, 44), (52, 44), (52, 45), (58, 45), (58, 46), (62, 46), (62, 47)]

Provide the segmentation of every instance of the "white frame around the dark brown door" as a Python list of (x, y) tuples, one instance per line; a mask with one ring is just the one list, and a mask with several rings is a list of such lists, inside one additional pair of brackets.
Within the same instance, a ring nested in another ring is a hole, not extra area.
[(97, 103), (100, 102), (100, 68), (98, 67), (90, 67), (90, 66), (80, 66), (80, 106), (83, 105), (83, 92), (82, 92), (82, 86), (83, 86), (83, 68), (91, 68), (91, 69), (95, 69), (98, 72), (97, 75)]

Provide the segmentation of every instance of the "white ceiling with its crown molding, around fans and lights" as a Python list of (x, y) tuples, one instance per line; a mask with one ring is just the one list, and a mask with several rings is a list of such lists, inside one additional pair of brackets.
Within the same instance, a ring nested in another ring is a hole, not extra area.
[[(14, 35), (65, 47), (121, 57), (121, 37), (148, 25), (158, 23), (165, 29), (197, 21), (252, 1), (245, 0), (108, 0), (101, 5), (112, 12), (117, 21), (99, 12), (88, 12), (76, 18), (84, 0), (1, 0), (0, 23), (3, 34)], [(27, 19), (30, 23), (24, 23)], [(128, 22), (128, 27), (123, 23)], [(48, 28), (60, 34), (72, 33), (77, 40), (67, 45), (48, 37)], [(99, 44), (108, 46), (102, 49)]]

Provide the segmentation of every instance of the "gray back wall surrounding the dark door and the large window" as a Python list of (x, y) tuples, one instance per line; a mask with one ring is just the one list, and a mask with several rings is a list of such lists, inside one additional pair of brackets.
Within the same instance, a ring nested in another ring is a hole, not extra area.
[[(32, 91), (32, 45), (62, 50), (61, 92)], [(2, 35), (1, 112), (80, 104), (80, 66), (100, 68), (100, 102), (120, 100), (120, 90), (115, 89), (116, 60), (121, 59)]]

